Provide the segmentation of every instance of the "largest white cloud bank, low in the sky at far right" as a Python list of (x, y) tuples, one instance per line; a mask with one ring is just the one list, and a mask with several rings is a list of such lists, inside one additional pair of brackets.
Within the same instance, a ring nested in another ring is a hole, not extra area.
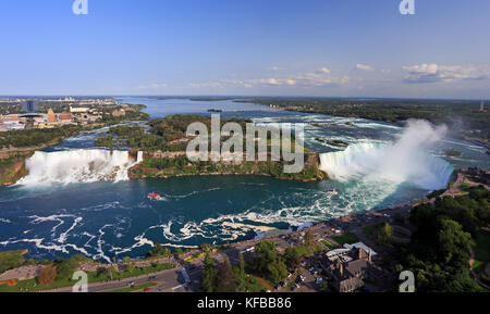
[(405, 83), (449, 83), (463, 79), (485, 79), (490, 68), (477, 68), (473, 65), (438, 65), (436, 63), (403, 66), (407, 72)]

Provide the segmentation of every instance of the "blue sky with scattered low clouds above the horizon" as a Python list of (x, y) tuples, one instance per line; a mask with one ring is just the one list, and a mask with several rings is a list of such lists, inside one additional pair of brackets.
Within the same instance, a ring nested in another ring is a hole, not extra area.
[(0, 95), (490, 98), (490, 1), (0, 0)]

